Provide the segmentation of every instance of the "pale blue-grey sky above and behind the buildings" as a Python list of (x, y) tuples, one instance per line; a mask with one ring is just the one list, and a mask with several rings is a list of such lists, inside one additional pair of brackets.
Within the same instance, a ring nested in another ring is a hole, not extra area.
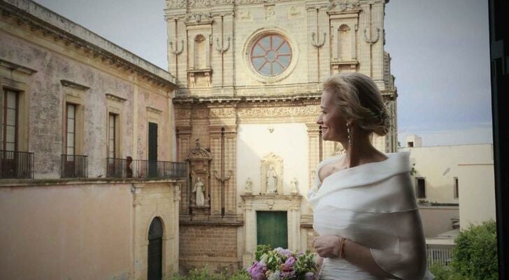
[[(164, 0), (35, 0), (168, 69)], [(385, 50), (398, 88), (399, 141), (492, 143), (486, 1), (391, 0)]]

